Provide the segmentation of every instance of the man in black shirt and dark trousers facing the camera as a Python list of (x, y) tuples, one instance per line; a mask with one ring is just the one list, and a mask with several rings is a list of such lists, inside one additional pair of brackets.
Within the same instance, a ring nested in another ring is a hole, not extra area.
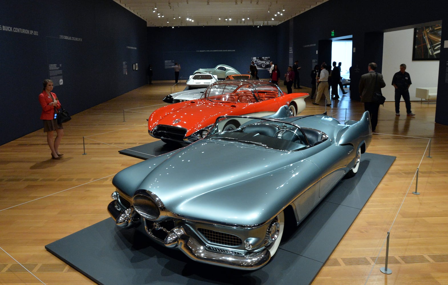
[(400, 71), (396, 72), (392, 79), (392, 85), (395, 87), (395, 115), (400, 115), (401, 96), (405, 100), (406, 113), (408, 116), (415, 116), (411, 111), (411, 101), (409, 99), (409, 86), (412, 84), (411, 77), (406, 70), (406, 64), (400, 64)]

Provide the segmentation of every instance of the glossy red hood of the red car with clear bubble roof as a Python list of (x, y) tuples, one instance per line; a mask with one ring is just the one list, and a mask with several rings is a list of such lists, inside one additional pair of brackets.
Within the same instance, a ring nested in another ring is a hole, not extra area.
[[(244, 109), (246, 105), (249, 104), (213, 102), (208, 99), (171, 104), (159, 108), (151, 114), (148, 120), (148, 129), (151, 131), (157, 125), (169, 125), (186, 128), (185, 136), (190, 136), (193, 132), (215, 123), (218, 116), (241, 115), (241, 109)], [(237, 114), (234, 113), (235, 110), (238, 110)]]

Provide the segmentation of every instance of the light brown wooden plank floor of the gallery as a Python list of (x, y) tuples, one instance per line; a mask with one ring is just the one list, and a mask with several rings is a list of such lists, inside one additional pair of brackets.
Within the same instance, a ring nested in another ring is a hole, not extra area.
[[(61, 160), (51, 159), (42, 129), (0, 146), (0, 284), (94, 284), (44, 246), (109, 217), (112, 177), (141, 161), (118, 151), (155, 140), (146, 119), (171, 85), (156, 81), (73, 115)], [(306, 102), (304, 114), (325, 110)], [(412, 102), (415, 117), (404, 102), (400, 117), (393, 102), (380, 106), (368, 152), (396, 161), (312, 284), (448, 284), (448, 126), (434, 123), (435, 104)], [(340, 120), (362, 111), (346, 95), (327, 108)], [(390, 275), (380, 272), (388, 231)]]

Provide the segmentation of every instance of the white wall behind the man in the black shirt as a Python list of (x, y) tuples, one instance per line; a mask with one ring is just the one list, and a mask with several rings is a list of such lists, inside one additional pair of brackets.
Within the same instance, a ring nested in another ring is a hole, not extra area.
[[(386, 101), (395, 101), (395, 89), (392, 77), (400, 71), (400, 64), (406, 64), (412, 85), (409, 87), (411, 101), (420, 101), (415, 97), (415, 88), (437, 87), (439, 77), (439, 60), (412, 61), (414, 29), (384, 33), (382, 73), (386, 87), (381, 89)], [(401, 99), (403, 101), (403, 99)]]

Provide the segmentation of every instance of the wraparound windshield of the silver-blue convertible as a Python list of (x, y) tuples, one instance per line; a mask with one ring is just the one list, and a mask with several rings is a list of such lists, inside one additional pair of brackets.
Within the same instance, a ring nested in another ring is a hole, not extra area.
[(218, 117), (206, 139), (280, 150), (299, 150), (310, 146), (302, 128), (293, 123), (246, 116)]

